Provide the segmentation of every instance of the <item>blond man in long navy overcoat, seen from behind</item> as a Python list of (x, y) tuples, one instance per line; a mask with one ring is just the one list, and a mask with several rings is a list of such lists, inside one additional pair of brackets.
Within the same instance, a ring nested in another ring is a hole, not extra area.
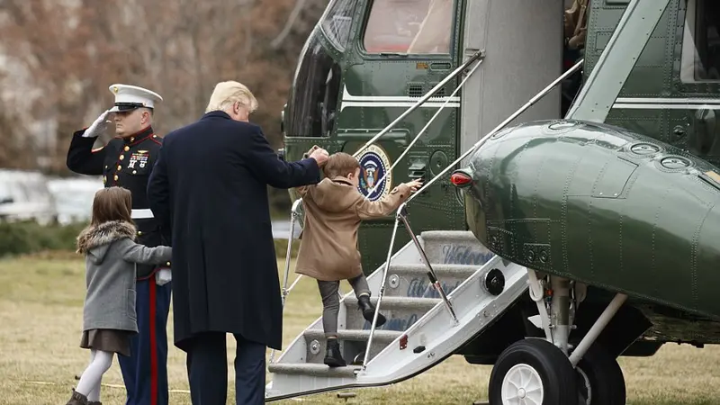
[(148, 182), (161, 229), (171, 229), (175, 346), (187, 353), (192, 401), (225, 404), (226, 333), (238, 348), (238, 404), (265, 403), (266, 347), (281, 349), (283, 313), (267, 185), (320, 182), (328, 152), (287, 163), (248, 121), (245, 85), (215, 86), (199, 121), (168, 133)]

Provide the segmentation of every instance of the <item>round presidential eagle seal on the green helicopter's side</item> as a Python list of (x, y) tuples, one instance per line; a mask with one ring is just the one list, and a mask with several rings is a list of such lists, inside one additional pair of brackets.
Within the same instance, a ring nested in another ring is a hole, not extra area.
[[(370, 145), (360, 158), (360, 182), (357, 189), (370, 201), (376, 201), (390, 193), (392, 172), (390, 158), (377, 145)], [(378, 181), (382, 182), (378, 183)]]

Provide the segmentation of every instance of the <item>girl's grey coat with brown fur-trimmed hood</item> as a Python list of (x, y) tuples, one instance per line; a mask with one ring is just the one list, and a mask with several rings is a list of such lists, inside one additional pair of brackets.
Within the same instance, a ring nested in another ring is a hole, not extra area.
[(135, 313), (135, 264), (155, 265), (171, 259), (170, 247), (135, 243), (135, 227), (110, 221), (84, 229), (77, 252), (85, 254), (83, 330), (138, 331)]

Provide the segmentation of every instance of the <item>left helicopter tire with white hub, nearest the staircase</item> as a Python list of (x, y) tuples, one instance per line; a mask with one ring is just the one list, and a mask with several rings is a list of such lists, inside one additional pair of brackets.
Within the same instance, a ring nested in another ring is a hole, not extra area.
[(577, 376), (570, 360), (552, 343), (527, 338), (506, 348), (492, 368), (491, 405), (525, 403), (576, 405)]

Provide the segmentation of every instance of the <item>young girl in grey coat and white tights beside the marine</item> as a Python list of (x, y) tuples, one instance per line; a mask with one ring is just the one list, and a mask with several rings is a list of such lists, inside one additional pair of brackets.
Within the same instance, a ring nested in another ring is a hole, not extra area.
[(130, 336), (138, 332), (135, 265), (160, 264), (172, 258), (170, 247), (135, 243), (131, 207), (129, 190), (99, 190), (90, 226), (77, 237), (77, 252), (85, 255), (87, 288), (80, 347), (90, 349), (90, 365), (66, 405), (101, 403), (100, 381), (112, 365), (112, 356), (130, 356)]

